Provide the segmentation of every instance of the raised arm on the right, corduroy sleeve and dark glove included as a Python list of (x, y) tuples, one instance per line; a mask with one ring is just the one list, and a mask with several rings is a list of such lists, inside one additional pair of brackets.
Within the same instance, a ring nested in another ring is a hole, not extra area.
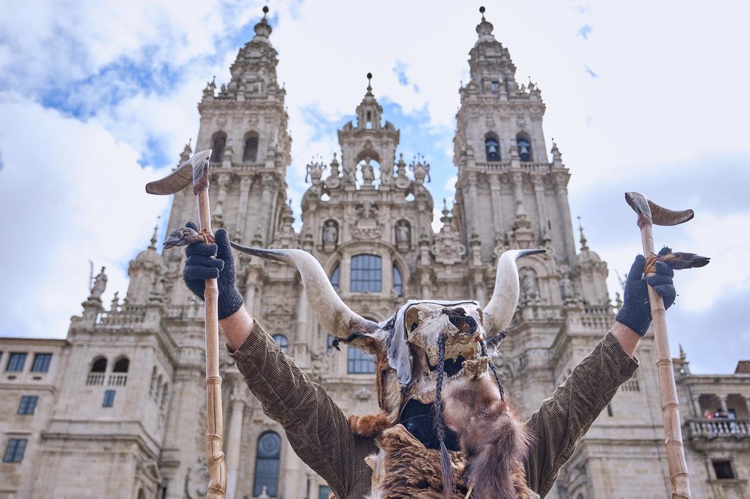
[(646, 282), (664, 298), (665, 308), (674, 301), (672, 269), (658, 262), (656, 274), (646, 281), (644, 265), (645, 258), (638, 255), (625, 283), (624, 303), (607, 336), (526, 422), (534, 438), (526, 460), (526, 481), (542, 497), (552, 488), (577, 441), (638, 367), (633, 354), (651, 324)]

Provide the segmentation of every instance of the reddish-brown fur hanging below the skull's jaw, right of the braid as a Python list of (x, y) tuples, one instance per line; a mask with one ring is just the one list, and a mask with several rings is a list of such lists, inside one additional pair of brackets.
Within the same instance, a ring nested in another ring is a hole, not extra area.
[(523, 476), (529, 436), (495, 381), (456, 380), (443, 388), (443, 418), (458, 433), (472, 498), (534, 498)]

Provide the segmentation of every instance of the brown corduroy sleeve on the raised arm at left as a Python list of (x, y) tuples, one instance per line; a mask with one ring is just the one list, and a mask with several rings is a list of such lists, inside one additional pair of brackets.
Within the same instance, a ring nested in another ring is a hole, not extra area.
[(263, 412), (284, 426), (297, 455), (347, 498), (362, 479), (371, 439), (353, 435), (347, 418), (320, 384), (314, 383), (255, 321), (250, 336), (229, 352)]

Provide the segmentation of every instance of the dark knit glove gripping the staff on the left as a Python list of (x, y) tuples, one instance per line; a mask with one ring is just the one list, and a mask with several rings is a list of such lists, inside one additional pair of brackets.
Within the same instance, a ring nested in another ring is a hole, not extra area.
[[(185, 224), (190, 229), (198, 230), (192, 222)], [(203, 299), (205, 291), (205, 279), (217, 279), (219, 287), (218, 311), (219, 319), (229, 317), (239, 310), (242, 303), (242, 294), (239, 294), (236, 285), (236, 273), (232, 249), (229, 247), (229, 237), (226, 230), (219, 229), (214, 234), (216, 244), (193, 243), (185, 248), (185, 269), (182, 279), (187, 288)], [(216, 258), (213, 258), (213, 257)]]

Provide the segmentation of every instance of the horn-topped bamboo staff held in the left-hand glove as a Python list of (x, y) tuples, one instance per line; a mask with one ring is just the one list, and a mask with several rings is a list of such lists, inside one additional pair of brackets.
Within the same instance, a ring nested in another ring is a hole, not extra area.
[[(211, 231), (211, 208), (208, 205), (208, 160), (211, 150), (193, 154), (171, 175), (149, 182), (149, 194), (175, 194), (193, 184), (198, 199), (199, 230), (206, 243), (214, 242)], [(221, 448), (223, 412), (221, 409), (221, 376), (219, 375), (219, 288), (216, 279), (205, 279), (205, 395), (208, 408), (208, 429), (205, 450), (208, 455), (208, 499), (223, 499), (226, 493), (226, 464)]]

